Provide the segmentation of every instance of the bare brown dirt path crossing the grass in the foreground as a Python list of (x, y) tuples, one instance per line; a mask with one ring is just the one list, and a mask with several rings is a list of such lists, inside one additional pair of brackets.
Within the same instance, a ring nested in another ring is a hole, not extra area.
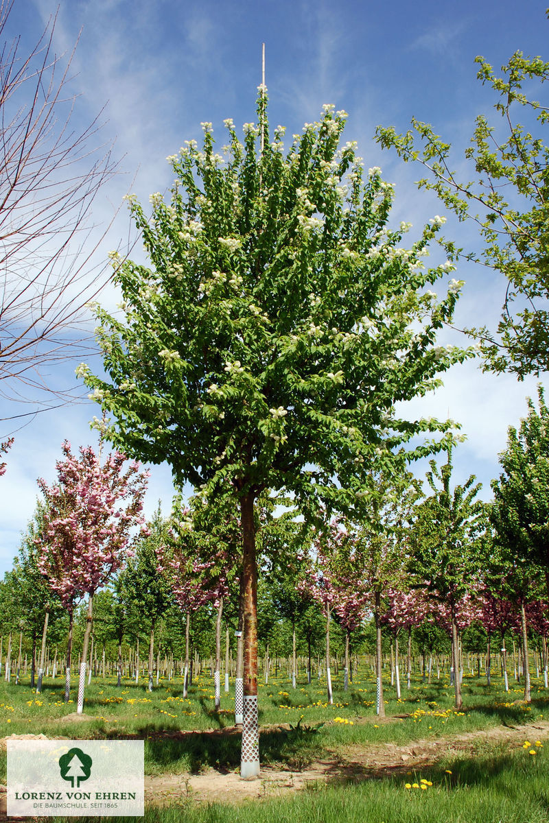
[[(232, 732), (229, 729), (226, 731)], [(44, 735), (12, 737), (44, 738)], [(241, 780), (235, 772), (222, 774), (213, 769), (202, 774), (146, 776), (145, 802), (157, 806), (184, 807), (197, 802), (238, 803), (251, 798), (277, 797), (317, 782), (357, 782), (383, 774), (425, 770), (428, 766), (435, 765), (441, 757), (453, 752), (474, 751), (479, 742), (507, 741), (519, 746), (527, 738), (533, 742), (544, 741), (548, 737), (549, 721), (539, 721), (516, 727), (497, 726), (486, 731), (417, 740), (404, 746), (394, 743), (368, 746), (353, 744), (338, 748), (337, 752), (327, 751), (322, 760), (314, 760), (301, 771), (291, 772), (276, 766), (264, 766), (261, 777), (251, 780)], [(0, 738), (0, 748), (6, 746), (6, 740), (6, 737)], [(5, 787), (0, 787), (0, 821), (5, 820)]]

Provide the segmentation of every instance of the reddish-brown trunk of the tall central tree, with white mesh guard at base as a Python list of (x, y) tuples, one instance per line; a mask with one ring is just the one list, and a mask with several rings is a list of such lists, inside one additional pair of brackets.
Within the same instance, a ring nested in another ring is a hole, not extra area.
[(244, 719), (240, 777), (259, 775), (258, 570), (255, 554), (254, 495), (240, 498), (244, 579)]

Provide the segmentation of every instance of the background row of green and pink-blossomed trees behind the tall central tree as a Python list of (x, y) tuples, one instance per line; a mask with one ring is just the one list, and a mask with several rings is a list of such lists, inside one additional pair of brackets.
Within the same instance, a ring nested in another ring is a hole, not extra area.
[[(492, 483), (495, 499), (477, 499), (479, 484), (470, 477), (452, 486), (452, 449), (447, 461), (430, 463), (426, 493), (405, 472), (391, 481), (377, 477), (373, 505), (367, 519), (356, 523), (342, 515), (313, 525), (295, 518), (295, 507), (272, 495), (263, 495), (256, 508), (263, 614), (259, 623), (269, 642), (278, 615), (291, 626), (291, 677), (296, 677), (296, 627), (308, 640), (309, 681), (311, 642), (319, 648), (319, 611), (325, 621), (325, 672), (328, 702), (333, 703), (330, 621), (335, 618), (344, 639), (344, 688), (348, 687), (351, 635), (360, 636), (371, 621), (375, 626), (376, 712), (384, 714), (382, 631), (394, 642), (397, 696), (399, 638), (407, 635), (407, 686), (410, 686), (412, 629), (434, 624), (449, 636), (450, 677), (456, 706), (461, 708), (460, 637), (477, 622), (486, 633), (486, 677), (491, 680), (491, 640), (501, 651), (505, 690), (507, 677), (505, 637), (519, 634), (522, 644), (524, 699), (530, 700), (528, 628), (542, 641), (542, 669), (547, 687), (547, 634), (549, 632), (549, 569), (544, 565), (542, 537), (547, 512), (540, 506), (547, 495), (549, 412), (539, 391), (539, 411), (529, 412), (519, 432), (509, 430), (508, 449), (501, 455), (502, 474)], [(240, 515), (228, 498), (216, 502), (195, 495), (190, 506), (180, 496), (164, 520), (160, 511), (149, 524), (141, 511), (147, 472), (133, 462), (124, 468), (121, 453), (104, 461), (91, 448), (75, 457), (63, 444), (58, 481), (39, 481), (43, 497), (24, 538), (14, 569), (0, 588), (2, 640), (7, 635), (6, 677), (10, 674), (12, 635), (19, 629), (16, 680), (21, 668), (24, 630), (33, 627), (33, 671), (36, 639), (41, 629), (37, 691), (42, 689), (44, 655), (50, 621), (68, 619), (65, 701), (70, 697), (72, 634), (75, 611), (86, 597), (85, 630), (81, 645), (77, 712), (84, 704), (86, 663), (92, 627), (92, 604), (102, 598), (99, 638), (115, 638), (117, 672), (123, 672), (124, 635), (148, 634), (148, 688), (153, 687), (155, 630), (175, 636), (164, 642), (173, 661), (174, 640), (184, 625), (184, 696), (190, 674), (189, 639), (192, 616), (209, 605), (215, 613), (214, 690), (221, 705), (221, 635), (226, 626), (226, 690), (229, 688), (229, 625), (236, 628), (236, 722), (242, 723), (244, 598)], [(5, 470), (5, 465), (3, 466)], [(532, 491), (536, 492), (534, 497)], [(281, 513), (282, 512), (282, 513)], [(536, 520), (537, 518), (537, 520)], [(131, 537), (133, 527), (140, 532)], [(540, 575), (540, 570), (543, 572)], [(543, 581), (540, 588), (540, 581)], [(105, 588), (109, 584), (109, 588)], [(104, 589), (103, 591), (101, 591)], [(225, 613), (224, 613), (225, 610)], [(183, 616), (183, 617), (182, 617)], [(222, 619), (224, 617), (224, 624)], [(179, 625), (178, 625), (179, 624)], [(263, 625), (261, 625), (263, 624)], [(177, 628), (176, 628), (177, 626)], [(61, 630), (64, 629), (62, 621)], [(50, 628), (51, 632), (51, 628)], [(96, 633), (97, 634), (97, 633)], [(59, 629), (57, 630), (59, 640)], [(423, 639), (432, 650), (435, 636)], [(478, 648), (478, 647), (477, 647)], [(158, 677), (160, 648), (156, 648)], [(90, 661), (92, 655), (90, 653)], [(0, 650), (0, 665), (2, 652)], [(103, 663), (105, 669), (105, 662)], [(515, 663), (516, 668), (516, 663)], [(171, 664), (173, 671), (173, 662)], [(139, 671), (137, 658), (133, 671)], [(458, 673), (456, 675), (456, 672)], [(240, 686), (239, 686), (240, 683)], [(34, 685), (34, 683), (33, 683)]]

